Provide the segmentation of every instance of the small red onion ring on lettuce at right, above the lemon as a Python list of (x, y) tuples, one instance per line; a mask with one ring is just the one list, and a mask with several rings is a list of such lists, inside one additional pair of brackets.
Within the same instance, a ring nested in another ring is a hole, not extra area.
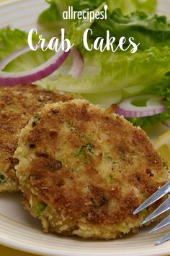
[[(146, 100), (146, 106), (135, 106), (134, 101)], [(141, 95), (128, 98), (119, 106), (117, 106), (116, 113), (125, 118), (136, 118), (144, 116), (154, 116), (166, 111), (166, 107), (161, 104), (162, 97), (158, 95)]]

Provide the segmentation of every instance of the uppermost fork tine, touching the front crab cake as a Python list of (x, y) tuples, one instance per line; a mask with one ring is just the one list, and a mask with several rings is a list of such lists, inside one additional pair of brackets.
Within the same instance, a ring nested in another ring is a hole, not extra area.
[(133, 214), (139, 213), (141, 210), (147, 208), (149, 205), (152, 205), (153, 202), (156, 202), (161, 197), (164, 197), (164, 195), (168, 194), (170, 192), (170, 182), (165, 184), (161, 189), (158, 189), (151, 197), (146, 200), (146, 202), (143, 202), (140, 207), (138, 207), (136, 210), (134, 210)]

